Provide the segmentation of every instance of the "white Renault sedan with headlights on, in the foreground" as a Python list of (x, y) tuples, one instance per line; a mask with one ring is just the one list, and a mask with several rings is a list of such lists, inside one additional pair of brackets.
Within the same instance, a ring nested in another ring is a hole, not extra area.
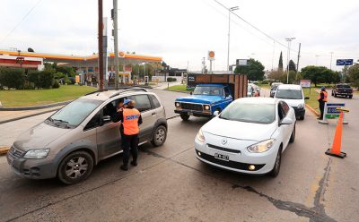
[(195, 139), (199, 160), (227, 170), (276, 176), (295, 138), (293, 107), (276, 98), (239, 98), (206, 123)]

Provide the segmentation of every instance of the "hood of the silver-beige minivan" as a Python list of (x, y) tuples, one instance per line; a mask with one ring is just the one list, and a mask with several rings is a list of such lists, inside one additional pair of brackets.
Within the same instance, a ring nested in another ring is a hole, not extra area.
[(51, 126), (45, 123), (37, 124), (30, 130), (22, 132), (13, 142), (13, 145), (17, 149), (27, 151), (29, 149), (43, 149), (46, 146), (55, 141), (57, 138), (70, 132), (71, 129), (62, 129), (55, 126)]

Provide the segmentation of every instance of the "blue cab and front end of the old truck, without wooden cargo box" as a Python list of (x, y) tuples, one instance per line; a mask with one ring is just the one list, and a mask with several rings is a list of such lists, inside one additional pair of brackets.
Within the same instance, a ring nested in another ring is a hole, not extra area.
[(174, 112), (187, 121), (190, 115), (212, 117), (233, 101), (228, 84), (198, 84), (189, 97), (176, 98)]

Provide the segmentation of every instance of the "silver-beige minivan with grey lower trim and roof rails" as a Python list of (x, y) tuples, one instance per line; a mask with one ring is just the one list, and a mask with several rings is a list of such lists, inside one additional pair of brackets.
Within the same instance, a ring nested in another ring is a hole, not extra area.
[(31, 179), (57, 177), (65, 184), (83, 181), (102, 159), (122, 152), (120, 122), (111, 116), (127, 98), (136, 101), (143, 118), (139, 144), (150, 141), (161, 146), (167, 120), (154, 93), (141, 88), (95, 91), (23, 132), (7, 154), (13, 172)]

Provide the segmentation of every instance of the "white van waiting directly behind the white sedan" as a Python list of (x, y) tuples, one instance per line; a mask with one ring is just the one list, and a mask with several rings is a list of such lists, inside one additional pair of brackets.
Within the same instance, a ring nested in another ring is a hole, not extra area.
[(293, 107), (295, 111), (295, 117), (297, 119), (303, 120), (305, 115), (305, 102), (304, 99), (309, 99), (308, 97), (304, 98), (302, 87), (300, 85), (292, 84), (283, 84), (278, 85), (276, 89), (275, 98), (281, 98), (285, 102)]

